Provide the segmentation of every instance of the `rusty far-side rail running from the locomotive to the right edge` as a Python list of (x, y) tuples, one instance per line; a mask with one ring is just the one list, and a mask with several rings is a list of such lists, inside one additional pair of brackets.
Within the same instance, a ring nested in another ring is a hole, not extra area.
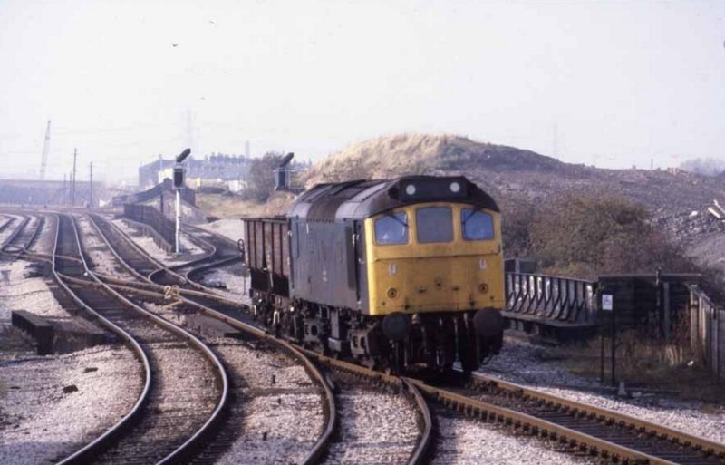
[(643, 434), (650, 434), (662, 440), (672, 441), (675, 444), (680, 444), (682, 447), (701, 450), (706, 454), (715, 455), (721, 460), (725, 460), (725, 444), (710, 441), (684, 431), (673, 430), (672, 428), (652, 423), (651, 421), (644, 421), (630, 415), (625, 415), (624, 413), (596, 407), (585, 402), (572, 401), (561, 396), (537, 391), (520, 384), (510, 383), (481, 373), (474, 375), (474, 382), (488, 384), (502, 391), (512, 392), (524, 400), (546, 402), (552, 406), (560, 406), (561, 408), (567, 409), (569, 412), (581, 412), (595, 416), (604, 421), (610, 421)]

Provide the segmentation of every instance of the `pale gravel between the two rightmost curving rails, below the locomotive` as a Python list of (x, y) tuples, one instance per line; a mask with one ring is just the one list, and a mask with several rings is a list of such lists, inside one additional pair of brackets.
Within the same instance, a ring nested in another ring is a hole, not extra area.
[(346, 377), (335, 383), (339, 436), (324, 463), (405, 463), (420, 434), (413, 403)]

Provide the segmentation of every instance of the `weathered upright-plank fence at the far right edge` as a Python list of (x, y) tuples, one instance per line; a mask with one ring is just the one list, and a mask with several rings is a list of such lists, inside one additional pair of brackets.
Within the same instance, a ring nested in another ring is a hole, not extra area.
[(690, 341), (695, 356), (721, 381), (725, 377), (725, 310), (698, 286), (690, 287)]

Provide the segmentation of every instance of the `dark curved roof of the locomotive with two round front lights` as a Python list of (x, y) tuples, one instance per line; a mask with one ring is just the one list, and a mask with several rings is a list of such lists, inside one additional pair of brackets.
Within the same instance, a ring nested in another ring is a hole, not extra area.
[(499, 211), (491, 196), (463, 176), (404, 176), (318, 184), (295, 201), (287, 217), (317, 221), (369, 218), (392, 208), (437, 201)]

